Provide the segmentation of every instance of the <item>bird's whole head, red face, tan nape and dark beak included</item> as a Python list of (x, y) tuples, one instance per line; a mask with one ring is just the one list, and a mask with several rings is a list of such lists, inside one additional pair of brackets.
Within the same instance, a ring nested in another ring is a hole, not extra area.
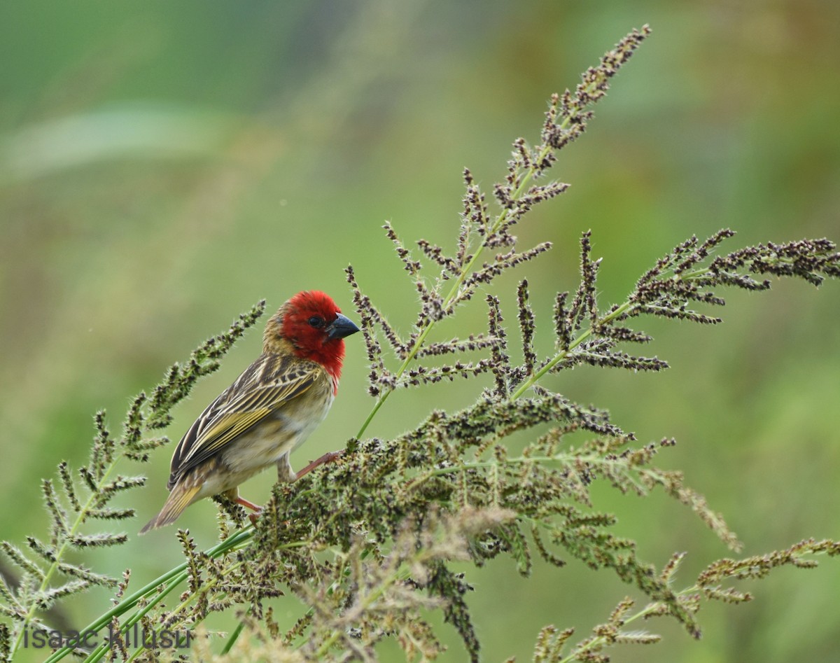
[(344, 359), (344, 337), (359, 328), (341, 314), (332, 297), (319, 290), (298, 292), (265, 325), (266, 353), (293, 352), (318, 361), (338, 380)]

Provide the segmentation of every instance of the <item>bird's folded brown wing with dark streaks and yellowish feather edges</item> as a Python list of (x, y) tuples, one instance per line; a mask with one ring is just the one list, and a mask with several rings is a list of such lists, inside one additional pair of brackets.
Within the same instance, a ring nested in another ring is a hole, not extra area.
[(293, 398), (307, 392), (323, 372), (314, 362), (301, 366), (291, 356), (262, 355), (186, 431), (172, 455), (168, 487), (240, 434)]

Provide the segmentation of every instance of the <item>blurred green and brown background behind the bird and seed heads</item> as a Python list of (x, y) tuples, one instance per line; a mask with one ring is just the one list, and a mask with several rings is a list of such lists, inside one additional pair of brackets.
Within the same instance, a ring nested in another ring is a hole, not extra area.
[[(45, 531), (39, 480), (61, 459), (83, 462), (98, 408), (118, 429), (129, 397), (260, 297), (274, 310), (320, 288), (351, 313), (343, 270), (352, 263), (366, 292), (410, 329), (412, 288), (382, 222), (407, 242), (452, 247), (462, 168), (490, 191), (512, 139), (538, 138), (549, 94), (644, 23), (653, 36), (554, 169), (570, 191), (517, 233), (523, 246), (555, 245), (514, 275), (533, 285), (543, 352), (554, 292), (576, 284), (582, 230), (593, 230), (605, 259), (604, 304), (692, 233), (731, 226), (732, 249), (840, 239), (840, 5), (3, 3), (0, 538)], [(509, 320), (514, 284), (501, 284)], [(650, 352), (671, 363), (663, 375), (585, 368), (551, 387), (611, 409), (643, 441), (674, 435), (679, 445), (661, 463), (684, 469), (727, 515), (745, 554), (840, 537), (840, 284), (817, 292), (780, 282), (727, 303), (715, 328), (644, 321), (656, 337)], [(479, 308), (464, 317), (468, 331), (484, 325)], [(167, 433), (178, 439), (259, 347), (253, 331)], [(349, 339), (341, 395), (296, 466), (359, 429), (371, 405), (365, 373), (361, 340)], [(368, 432), (397, 433), (429, 408), (470, 403), (479, 387), (398, 393)], [(130, 495), (139, 518), (129, 545), (87, 565), (131, 566), (139, 587), (177, 563), (174, 530), (134, 537), (163, 502), (169, 455), (141, 468), (151, 478)], [(262, 501), (270, 474), (244, 494)], [(642, 537), (645, 559), (661, 565), (690, 550), (679, 584), (728, 553), (664, 497), (596, 495), (619, 515), (620, 534)], [(213, 540), (214, 510), (202, 503), (181, 518), (202, 545)], [(584, 637), (629, 589), (574, 562), (522, 580), (496, 560), (468, 577), (489, 661), (529, 660), (543, 624)], [(644, 624), (664, 644), (615, 660), (837, 660), (837, 562), (749, 588), (759, 600), (704, 608), (700, 643), (673, 624)], [(106, 607), (91, 592), (65, 609), (79, 628)], [(278, 607), (281, 618), (299, 610), (294, 597)], [(452, 629), (441, 633), (451, 645), (444, 660), (463, 660)]]

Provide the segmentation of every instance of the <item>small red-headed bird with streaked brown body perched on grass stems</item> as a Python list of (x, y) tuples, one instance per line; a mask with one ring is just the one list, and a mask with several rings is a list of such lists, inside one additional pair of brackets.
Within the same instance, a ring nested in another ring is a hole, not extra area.
[(341, 452), (323, 455), (296, 474), (289, 456), (327, 416), (339, 389), (344, 338), (359, 328), (326, 293), (298, 292), (265, 324), (263, 350), (199, 415), (172, 455), (170, 494), (139, 534), (175, 522), (204, 497), (239, 497), (239, 484), (276, 466), (295, 481)]

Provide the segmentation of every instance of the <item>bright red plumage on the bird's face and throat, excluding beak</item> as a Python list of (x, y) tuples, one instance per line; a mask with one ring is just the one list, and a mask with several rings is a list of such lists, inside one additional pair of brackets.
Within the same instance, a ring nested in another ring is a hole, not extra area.
[[(344, 339), (330, 339), (324, 331), (341, 313), (333, 298), (320, 290), (306, 290), (291, 297), (284, 308), (281, 335), (295, 346), (295, 354), (318, 361), (338, 381), (344, 360)], [(318, 324), (315, 318), (321, 318), (323, 324)]]

